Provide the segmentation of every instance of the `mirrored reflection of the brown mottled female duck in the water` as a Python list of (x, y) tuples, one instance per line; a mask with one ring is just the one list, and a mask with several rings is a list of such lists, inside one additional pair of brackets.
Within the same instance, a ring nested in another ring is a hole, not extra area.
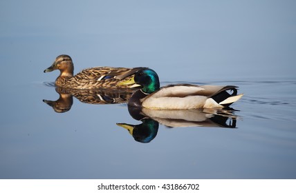
[(82, 103), (89, 104), (119, 104), (127, 103), (133, 89), (118, 90), (71, 90), (66, 88), (55, 88), (59, 94), (57, 101), (43, 100), (44, 103), (50, 105), (55, 112), (62, 113), (71, 110), (73, 105), (73, 96)]

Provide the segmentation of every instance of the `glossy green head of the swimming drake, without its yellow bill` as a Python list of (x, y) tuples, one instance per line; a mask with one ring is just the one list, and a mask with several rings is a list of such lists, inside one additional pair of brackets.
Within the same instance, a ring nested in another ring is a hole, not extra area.
[(142, 92), (147, 94), (151, 94), (152, 92), (159, 90), (160, 87), (158, 75), (154, 70), (149, 68), (138, 71), (135, 74), (134, 81), (137, 84), (142, 85)]

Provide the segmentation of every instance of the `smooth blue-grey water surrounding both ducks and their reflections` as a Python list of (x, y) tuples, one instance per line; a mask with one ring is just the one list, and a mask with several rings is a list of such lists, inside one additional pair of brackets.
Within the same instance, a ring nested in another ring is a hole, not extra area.
[[(1, 1), (1, 179), (295, 179), (295, 1)], [(237, 128), (167, 128), (139, 143), (126, 104), (59, 95), (44, 74), (147, 66), (162, 85), (238, 85)]]

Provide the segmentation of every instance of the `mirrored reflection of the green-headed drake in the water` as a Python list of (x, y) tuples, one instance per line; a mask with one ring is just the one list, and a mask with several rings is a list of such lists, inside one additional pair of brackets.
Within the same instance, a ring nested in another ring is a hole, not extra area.
[(129, 114), (142, 123), (131, 125), (116, 123), (125, 128), (138, 142), (149, 143), (158, 132), (159, 123), (167, 128), (237, 128), (237, 116), (232, 108), (192, 109), (192, 110), (153, 110), (128, 106)]

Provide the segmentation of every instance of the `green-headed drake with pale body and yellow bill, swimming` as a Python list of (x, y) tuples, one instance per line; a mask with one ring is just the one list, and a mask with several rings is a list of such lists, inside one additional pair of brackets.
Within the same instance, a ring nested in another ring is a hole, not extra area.
[[(225, 108), (241, 99), (234, 85), (176, 84), (160, 88), (158, 75), (149, 68), (139, 70), (122, 85), (137, 83), (140, 90), (133, 93), (128, 105), (152, 109)], [(229, 92), (232, 92), (230, 94)]]

